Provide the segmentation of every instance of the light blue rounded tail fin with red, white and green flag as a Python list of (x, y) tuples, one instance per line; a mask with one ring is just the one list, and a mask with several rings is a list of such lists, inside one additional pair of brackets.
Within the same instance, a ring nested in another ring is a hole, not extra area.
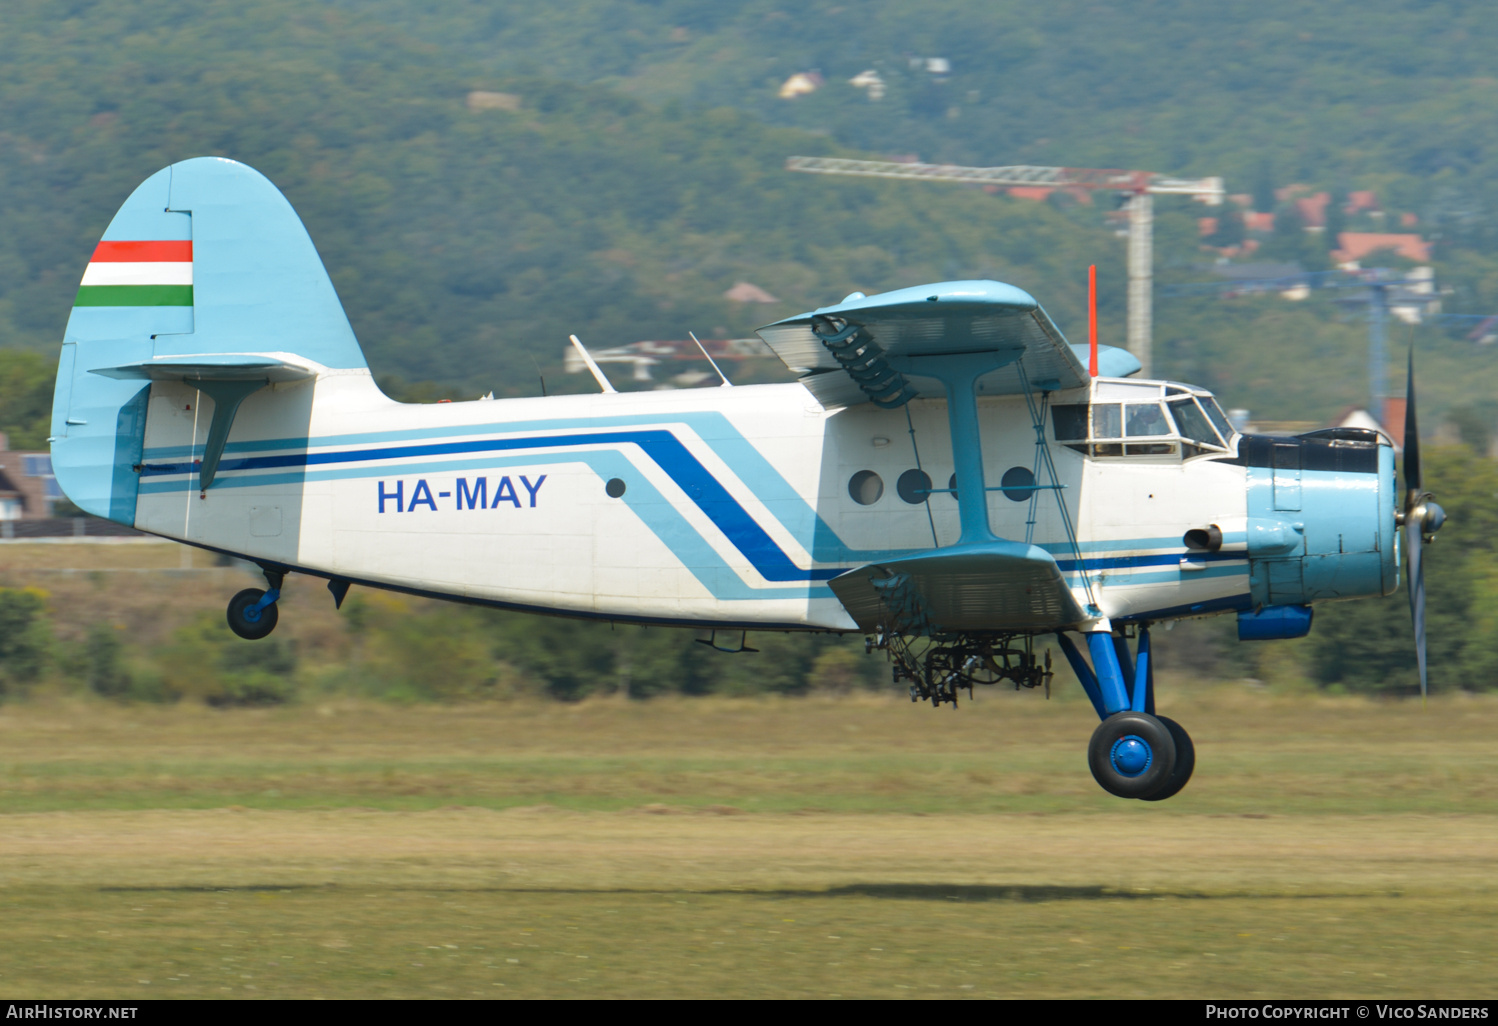
[[(67, 319), (52, 400), (58, 485), (82, 509), (133, 523), (148, 382), (172, 362), (199, 377), (222, 364), (243, 380), (246, 365), (288, 353), (367, 365), (291, 204), (234, 160), (157, 171), (109, 222)], [(204, 355), (216, 359), (183, 359)]]

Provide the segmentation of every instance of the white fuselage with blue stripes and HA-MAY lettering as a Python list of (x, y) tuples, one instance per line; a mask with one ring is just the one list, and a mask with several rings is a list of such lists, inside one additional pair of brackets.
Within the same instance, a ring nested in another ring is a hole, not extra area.
[[(830, 577), (959, 535), (950, 493), (899, 494), (917, 469), (948, 487), (942, 400), (824, 409), (789, 383), (418, 406), (366, 370), (325, 370), (246, 400), (199, 493), (211, 401), (153, 385), (136, 526), (363, 584), (611, 620), (852, 631)], [(1011, 469), (1049, 482), (1031, 407), (980, 398), (980, 421), (993, 533), (1050, 551), (1083, 608), (1182, 616), (1248, 592), (1246, 553), (1230, 557), (1245, 547), (1243, 467), (1092, 458), (1047, 431), (1062, 487), (1010, 497), (998, 488)], [(858, 494), (873, 502), (849, 490), (860, 472), (878, 475)], [(1224, 535), (1210, 563), (1182, 544), (1207, 524)]]

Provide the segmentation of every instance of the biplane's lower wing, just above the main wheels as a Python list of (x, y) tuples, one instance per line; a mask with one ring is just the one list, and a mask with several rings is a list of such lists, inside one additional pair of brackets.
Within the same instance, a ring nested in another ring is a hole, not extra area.
[(1056, 631), (1086, 619), (1043, 548), (995, 541), (869, 563), (828, 581), (860, 631)]

